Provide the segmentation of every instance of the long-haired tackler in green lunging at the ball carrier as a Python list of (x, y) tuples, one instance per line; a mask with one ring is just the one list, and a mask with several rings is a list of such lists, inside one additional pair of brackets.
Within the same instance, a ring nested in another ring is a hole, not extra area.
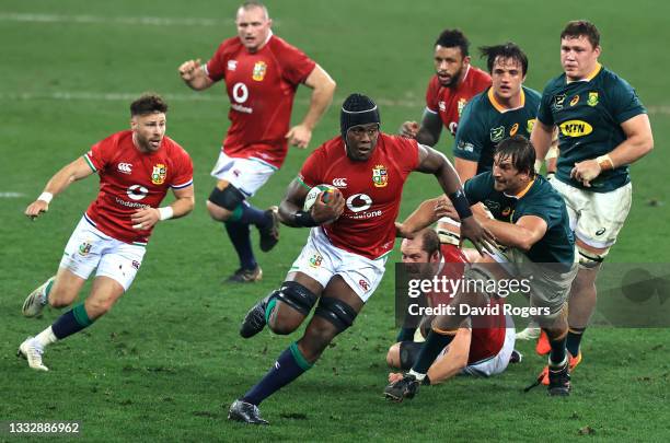
[[(566, 302), (578, 268), (575, 237), (563, 198), (544, 177), (535, 174), (534, 163), (535, 151), (530, 141), (513, 136), (496, 147), (492, 172), (465, 183), (469, 202), (483, 202), (494, 217), (489, 219), (475, 213), (476, 220), (508, 247), (505, 253), (482, 255), (465, 271), (465, 279), (484, 281), (484, 288), (490, 288), (490, 282), (503, 279), (509, 282), (510, 277), (523, 285), (525, 279), (529, 285), (525, 292), (535, 310), (533, 317), (550, 337), (548, 393), (568, 395)], [(461, 323), (470, 317), (471, 308), (485, 307), (492, 296), (503, 295), (499, 291), (476, 289), (476, 283), (461, 288), (450, 303), (453, 310), (432, 322), (412, 370), (384, 389), (388, 398), (402, 401), (414, 397), (419, 383), (427, 380), (428, 368), (453, 340)]]

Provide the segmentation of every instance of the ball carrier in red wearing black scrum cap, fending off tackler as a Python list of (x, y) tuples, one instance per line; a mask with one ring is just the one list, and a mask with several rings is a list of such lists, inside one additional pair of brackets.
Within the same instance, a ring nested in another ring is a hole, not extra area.
[[(296, 330), (319, 301), (300, 340), (229, 411), (231, 420), (265, 424), (258, 405), (310, 369), (343, 330), (350, 327), (384, 273), (395, 241), (403, 185), (412, 171), (435, 174), (463, 212), (462, 233), (482, 247), (489, 233), (473, 222), (461, 183), (449, 161), (431, 148), (380, 132), (377, 105), (351, 94), (340, 112), (340, 137), (316, 149), (289, 185), (279, 208), (290, 226), (312, 228), (286, 281), (247, 313), (240, 334), (252, 337), (267, 324), (276, 334)], [(333, 184), (331, 198), (303, 211), (310, 188)]]

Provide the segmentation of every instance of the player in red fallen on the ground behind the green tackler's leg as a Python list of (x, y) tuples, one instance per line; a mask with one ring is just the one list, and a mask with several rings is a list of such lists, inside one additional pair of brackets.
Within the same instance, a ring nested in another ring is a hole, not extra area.
[[(464, 266), (467, 258), (455, 245), (440, 244), (438, 234), (431, 229), (417, 232), (414, 238), (405, 238), (401, 245), (402, 258), (408, 278), (431, 280), (434, 276), (446, 280), (457, 281), (462, 279)], [(451, 302), (450, 292), (429, 293), (428, 306), (437, 307), (448, 305)], [(499, 300), (493, 300), (492, 305), (500, 305)], [(501, 307), (499, 315), (486, 315), (476, 317), (471, 327), (461, 327), (454, 340), (436, 359), (428, 371), (430, 384), (442, 383), (459, 373), (490, 376), (499, 374), (510, 362), (515, 348), (515, 329), (511, 318), (506, 317)], [(416, 306), (408, 313), (416, 314)], [(412, 315), (415, 324), (418, 315)], [(432, 316), (420, 318), (421, 329), (417, 334), (423, 337), (427, 335), (424, 329), (429, 327)], [(408, 333), (409, 328), (405, 328)], [(391, 346), (386, 353), (386, 363), (392, 368), (409, 370), (414, 364), (421, 348), (420, 341), (415, 341), (412, 328), (412, 337), (398, 340)], [(517, 355), (519, 355), (517, 353)], [(402, 378), (402, 374), (389, 374), (389, 382)]]

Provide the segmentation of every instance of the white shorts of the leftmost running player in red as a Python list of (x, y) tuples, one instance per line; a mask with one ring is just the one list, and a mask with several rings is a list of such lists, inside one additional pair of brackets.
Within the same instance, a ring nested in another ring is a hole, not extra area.
[(66, 245), (60, 267), (84, 280), (97, 268), (96, 277), (109, 277), (127, 291), (146, 252), (145, 246), (124, 243), (103, 234), (82, 217)]

